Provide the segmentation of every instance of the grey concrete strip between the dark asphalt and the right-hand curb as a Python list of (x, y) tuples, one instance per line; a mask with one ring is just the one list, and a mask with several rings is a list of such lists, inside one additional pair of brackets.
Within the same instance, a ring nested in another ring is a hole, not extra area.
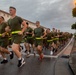
[(68, 65), (69, 59), (59, 58), (55, 64), (55, 74), (54, 75), (73, 75), (71, 69)]

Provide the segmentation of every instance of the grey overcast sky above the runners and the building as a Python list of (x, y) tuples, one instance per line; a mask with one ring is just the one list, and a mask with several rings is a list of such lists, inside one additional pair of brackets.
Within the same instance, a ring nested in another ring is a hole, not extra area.
[(76, 19), (72, 17), (73, 0), (0, 0), (0, 9), (9, 11), (9, 6), (17, 8), (17, 15), (42, 26), (55, 27), (61, 31), (73, 32), (71, 25)]

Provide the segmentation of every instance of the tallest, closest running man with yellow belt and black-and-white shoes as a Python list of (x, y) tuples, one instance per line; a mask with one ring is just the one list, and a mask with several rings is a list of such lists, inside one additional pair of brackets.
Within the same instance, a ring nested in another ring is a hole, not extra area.
[[(26, 30), (27, 25), (26, 22), (23, 21), (22, 18), (16, 16), (16, 8), (10, 7), (9, 13), (11, 15), (11, 18), (8, 20), (8, 27), (7, 30), (11, 30), (12, 33), (12, 50), (16, 54), (18, 58), (18, 67), (21, 67), (25, 64), (24, 58), (22, 58), (21, 53), (19, 52), (20, 43), (22, 41), (22, 35), (23, 32)], [(21, 24), (24, 26), (23, 29), (21, 29)]]

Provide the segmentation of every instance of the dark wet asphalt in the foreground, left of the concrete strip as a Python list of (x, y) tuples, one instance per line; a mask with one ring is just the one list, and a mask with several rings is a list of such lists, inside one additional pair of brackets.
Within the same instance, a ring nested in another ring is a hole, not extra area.
[(0, 75), (53, 75), (55, 59), (44, 58), (41, 62), (38, 57), (25, 58), (26, 64), (17, 67), (17, 58), (9, 60), (7, 64), (0, 64)]

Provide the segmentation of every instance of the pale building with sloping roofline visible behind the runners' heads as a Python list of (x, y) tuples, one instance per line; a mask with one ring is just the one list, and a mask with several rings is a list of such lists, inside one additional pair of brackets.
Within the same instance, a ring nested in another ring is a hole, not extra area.
[[(3, 10), (0, 10), (0, 16), (3, 16), (4, 18), (5, 18), (5, 21), (7, 21), (11, 16), (10, 16), (10, 14), (8, 13), (8, 12), (5, 12), (5, 11), (3, 11)], [(26, 20), (26, 19), (24, 19), (25, 21), (28, 21), (28, 20)], [(29, 26), (31, 27), (31, 28), (36, 28), (36, 25), (35, 25), (35, 23), (33, 23), (33, 22), (31, 22), (31, 21), (28, 21), (29, 22)], [(43, 26), (41, 26), (41, 27), (43, 27)], [(45, 30), (47, 29), (46, 27), (43, 27)]]

